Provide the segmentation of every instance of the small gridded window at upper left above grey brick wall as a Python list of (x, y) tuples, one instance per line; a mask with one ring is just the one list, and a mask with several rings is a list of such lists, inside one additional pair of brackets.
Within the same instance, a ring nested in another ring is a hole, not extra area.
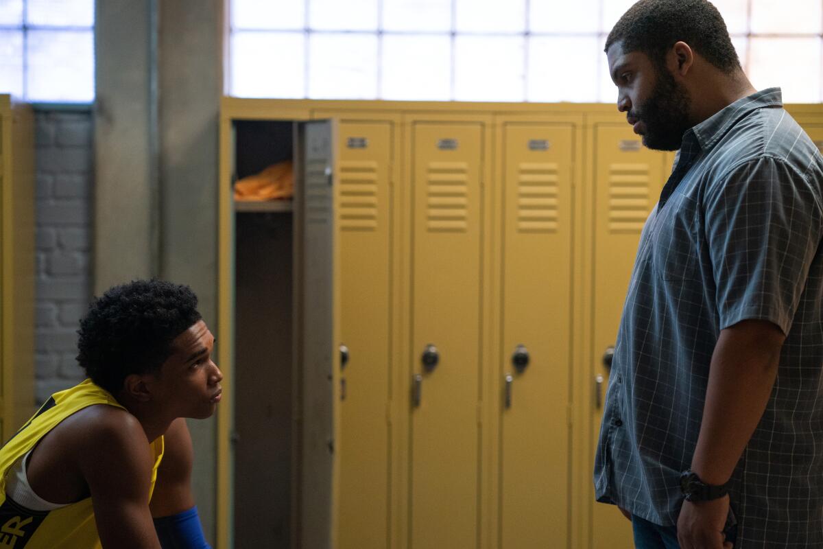
[(0, 0), (0, 93), (94, 100), (94, 7), (94, 0)]

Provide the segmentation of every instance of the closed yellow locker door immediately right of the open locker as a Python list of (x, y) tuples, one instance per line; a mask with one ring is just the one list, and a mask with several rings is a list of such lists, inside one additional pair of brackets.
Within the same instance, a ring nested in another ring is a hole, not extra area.
[(339, 125), (342, 549), (387, 547), (392, 349), (391, 121)]

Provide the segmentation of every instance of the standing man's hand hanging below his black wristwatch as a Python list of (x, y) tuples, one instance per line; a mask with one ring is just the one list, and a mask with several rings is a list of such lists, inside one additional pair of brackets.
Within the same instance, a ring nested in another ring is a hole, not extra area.
[(711, 501), (683, 501), (677, 519), (681, 549), (731, 549), (723, 528), (728, 517), (728, 495)]

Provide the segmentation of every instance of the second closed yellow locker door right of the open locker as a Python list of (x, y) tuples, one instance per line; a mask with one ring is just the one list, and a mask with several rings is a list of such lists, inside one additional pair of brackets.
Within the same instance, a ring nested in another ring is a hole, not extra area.
[(477, 547), (484, 129), (411, 128), (410, 549)]

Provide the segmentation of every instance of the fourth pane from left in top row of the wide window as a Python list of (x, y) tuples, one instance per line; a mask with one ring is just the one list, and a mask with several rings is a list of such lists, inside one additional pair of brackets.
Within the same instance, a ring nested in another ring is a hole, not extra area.
[(525, 0), (454, 0), (458, 32), (523, 32)]

